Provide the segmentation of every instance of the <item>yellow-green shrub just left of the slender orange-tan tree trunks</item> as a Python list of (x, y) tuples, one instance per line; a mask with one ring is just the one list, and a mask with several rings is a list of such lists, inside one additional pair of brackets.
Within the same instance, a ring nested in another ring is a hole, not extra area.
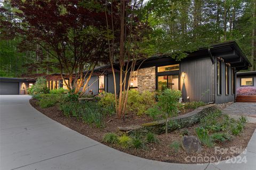
[(115, 113), (115, 94), (109, 92), (102, 92), (99, 94), (99, 106), (104, 108), (104, 111), (109, 115)]

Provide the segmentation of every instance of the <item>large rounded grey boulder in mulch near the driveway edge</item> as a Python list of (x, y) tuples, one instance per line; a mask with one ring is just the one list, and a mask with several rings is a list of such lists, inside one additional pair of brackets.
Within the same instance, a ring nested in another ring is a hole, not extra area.
[(183, 136), (181, 146), (187, 153), (198, 152), (202, 149), (201, 141), (193, 135)]

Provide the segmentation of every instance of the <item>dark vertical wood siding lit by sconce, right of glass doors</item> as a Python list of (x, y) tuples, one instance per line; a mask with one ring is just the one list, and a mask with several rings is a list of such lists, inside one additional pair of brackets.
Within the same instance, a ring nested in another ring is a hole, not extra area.
[[(185, 72), (185, 80), (182, 79)], [(182, 61), (180, 64), (180, 89), (185, 101), (214, 101), (214, 65), (209, 57)], [(205, 95), (203, 93), (207, 92)], [(187, 100), (189, 97), (189, 100)]]

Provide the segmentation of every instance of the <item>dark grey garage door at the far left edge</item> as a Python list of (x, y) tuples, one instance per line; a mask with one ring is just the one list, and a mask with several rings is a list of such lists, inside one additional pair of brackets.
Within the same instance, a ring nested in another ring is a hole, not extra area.
[(0, 95), (19, 95), (19, 82), (0, 82)]

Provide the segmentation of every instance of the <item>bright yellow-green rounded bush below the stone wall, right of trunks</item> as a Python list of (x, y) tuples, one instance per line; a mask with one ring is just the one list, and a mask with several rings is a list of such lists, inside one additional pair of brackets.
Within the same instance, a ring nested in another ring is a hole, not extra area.
[(135, 112), (137, 115), (144, 114), (148, 108), (155, 103), (155, 95), (153, 92), (143, 91), (141, 94), (137, 90), (129, 90), (127, 99), (127, 109)]

